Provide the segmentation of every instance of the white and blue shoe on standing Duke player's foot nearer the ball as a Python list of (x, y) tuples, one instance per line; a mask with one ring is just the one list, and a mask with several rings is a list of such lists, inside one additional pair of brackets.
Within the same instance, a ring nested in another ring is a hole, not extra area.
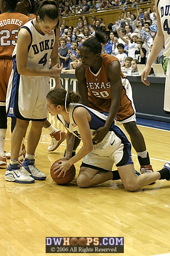
[(46, 176), (40, 172), (35, 166), (35, 159), (25, 159), (22, 163), (22, 172), (31, 175), (34, 179), (44, 180)]

